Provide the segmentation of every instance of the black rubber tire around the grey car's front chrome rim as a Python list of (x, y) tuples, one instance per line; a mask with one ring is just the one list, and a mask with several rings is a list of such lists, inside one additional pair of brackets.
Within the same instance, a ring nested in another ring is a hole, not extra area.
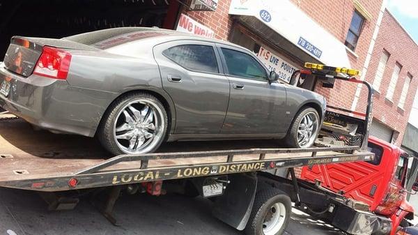
[(312, 107), (302, 107), (302, 109), (300, 109), (299, 112), (297, 112), (295, 119), (293, 119), (293, 123), (291, 125), (291, 127), (288, 130), (288, 134), (286, 135), (284, 141), (286, 142), (286, 145), (288, 145), (291, 148), (309, 148), (310, 146), (312, 146), (312, 144), (314, 144), (314, 142), (312, 142), (311, 144), (309, 144), (308, 146), (301, 146), (299, 144), (299, 142), (297, 141), (297, 129), (299, 128), (299, 124), (302, 121), (303, 117), (308, 114), (309, 112), (312, 112), (315, 116), (316, 119), (318, 121), (318, 126), (317, 126), (317, 130), (314, 133), (315, 139), (316, 137), (318, 137), (318, 132), (320, 129), (320, 117), (318, 112), (316, 111), (316, 109), (312, 108)]

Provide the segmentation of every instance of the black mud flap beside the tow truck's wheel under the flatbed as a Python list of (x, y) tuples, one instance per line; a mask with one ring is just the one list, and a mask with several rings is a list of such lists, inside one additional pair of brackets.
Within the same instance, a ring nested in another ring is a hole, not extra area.
[(256, 197), (256, 174), (231, 174), (231, 183), (215, 202), (212, 215), (235, 229), (243, 230), (249, 220)]

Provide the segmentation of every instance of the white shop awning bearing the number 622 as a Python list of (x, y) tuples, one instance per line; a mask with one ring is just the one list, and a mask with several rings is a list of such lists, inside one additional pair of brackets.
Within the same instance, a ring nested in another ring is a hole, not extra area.
[(291, 1), (232, 0), (229, 14), (256, 17), (321, 63), (351, 68), (346, 46)]

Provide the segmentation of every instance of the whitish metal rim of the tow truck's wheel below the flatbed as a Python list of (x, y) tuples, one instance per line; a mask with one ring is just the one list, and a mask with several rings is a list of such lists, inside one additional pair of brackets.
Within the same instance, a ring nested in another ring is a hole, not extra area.
[(281, 202), (273, 204), (265, 215), (263, 221), (263, 234), (277, 234), (281, 227), (283, 227), (284, 220), (286, 220), (286, 206)]

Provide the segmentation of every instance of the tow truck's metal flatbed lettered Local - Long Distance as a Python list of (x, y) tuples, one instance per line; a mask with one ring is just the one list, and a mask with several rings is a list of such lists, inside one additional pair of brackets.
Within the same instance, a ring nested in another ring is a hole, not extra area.
[[(22, 120), (3, 120), (0, 186), (55, 192), (373, 159), (373, 153), (357, 149), (343, 146), (190, 151), (123, 155), (105, 160), (109, 156), (94, 139), (36, 132)], [(77, 184), (71, 185), (70, 181)]]

